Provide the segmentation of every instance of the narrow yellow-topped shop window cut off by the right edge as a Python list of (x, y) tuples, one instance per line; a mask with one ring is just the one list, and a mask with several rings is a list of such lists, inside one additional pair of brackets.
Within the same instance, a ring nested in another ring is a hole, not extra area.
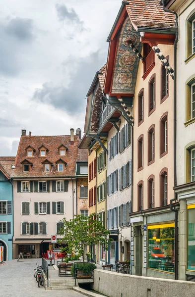
[(195, 270), (195, 204), (187, 206), (188, 209), (188, 270)]

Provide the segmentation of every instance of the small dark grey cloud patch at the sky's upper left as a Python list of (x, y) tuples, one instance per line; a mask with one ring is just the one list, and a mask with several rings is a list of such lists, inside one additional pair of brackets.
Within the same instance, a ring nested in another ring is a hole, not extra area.
[(34, 37), (33, 20), (27, 18), (16, 17), (11, 19), (5, 27), (6, 33), (15, 36), (21, 41), (29, 41)]

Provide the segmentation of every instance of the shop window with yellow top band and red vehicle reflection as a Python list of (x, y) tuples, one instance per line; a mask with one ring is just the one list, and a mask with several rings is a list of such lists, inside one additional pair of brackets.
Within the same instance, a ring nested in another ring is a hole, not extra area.
[(147, 226), (148, 268), (174, 273), (174, 233), (174, 223)]

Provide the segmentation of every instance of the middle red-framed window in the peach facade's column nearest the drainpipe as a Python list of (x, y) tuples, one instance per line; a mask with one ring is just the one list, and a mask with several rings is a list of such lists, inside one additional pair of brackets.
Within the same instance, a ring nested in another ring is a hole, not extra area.
[(168, 112), (160, 119), (160, 158), (168, 152)]

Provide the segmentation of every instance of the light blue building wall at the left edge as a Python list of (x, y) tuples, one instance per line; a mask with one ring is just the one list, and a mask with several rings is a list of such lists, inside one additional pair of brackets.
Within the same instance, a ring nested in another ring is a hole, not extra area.
[[(0, 222), (6, 222), (6, 233), (0, 233), (0, 244), (6, 247), (6, 258), (12, 259), (12, 238), (13, 238), (13, 190), (12, 185), (0, 171), (0, 201), (7, 201), (7, 211), (10, 214), (0, 214)], [(10, 232), (10, 233), (8, 233)], [(9, 240), (8, 240), (9, 239)]]

